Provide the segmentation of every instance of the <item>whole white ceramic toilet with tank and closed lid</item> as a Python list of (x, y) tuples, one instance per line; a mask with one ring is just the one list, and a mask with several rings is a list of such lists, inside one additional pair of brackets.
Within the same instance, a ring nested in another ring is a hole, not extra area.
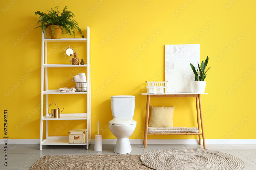
[(129, 137), (137, 122), (132, 119), (135, 108), (135, 96), (112, 96), (111, 111), (114, 119), (109, 121), (109, 129), (116, 137), (115, 153), (130, 153), (132, 147)]

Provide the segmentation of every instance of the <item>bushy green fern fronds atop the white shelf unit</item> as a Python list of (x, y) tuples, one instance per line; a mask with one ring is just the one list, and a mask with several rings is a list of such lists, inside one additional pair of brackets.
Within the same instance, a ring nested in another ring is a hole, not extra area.
[[(36, 15), (39, 15), (39, 21), (37, 23), (41, 22), (41, 25), (39, 27), (42, 29), (42, 32), (45, 33), (44, 27), (48, 28), (49, 25), (59, 25), (63, 27), (60, 27), (62, 32), (66, 30), (69, 35), (76, 37), (75, 30), (78, 30), (78, 32), (82, 34), (82, 37), (84, 37), (79, 25), (76, 21), (72, 19), (74, 17), (74, 14), (71, 11), (67, 10), (67, 6), (65, 6), (62, 12), (60, 12), (58, 6), (56, 6), (55, 8), (57, 8), (57, 10), (54, 10), (52, 8), (51, 11), (48, 10), (48, 14), (40, 11), (35, 12)], [(51, 30), (52, 35), (55, 37), (54, 28), (51, 27)]]

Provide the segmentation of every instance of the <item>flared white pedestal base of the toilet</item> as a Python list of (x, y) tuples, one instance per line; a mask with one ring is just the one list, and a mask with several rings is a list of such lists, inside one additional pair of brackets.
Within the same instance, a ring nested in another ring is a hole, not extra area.
[(117, 138), (114, 152), (119, 154), (126, 154), (132, 151), (129, 138)]

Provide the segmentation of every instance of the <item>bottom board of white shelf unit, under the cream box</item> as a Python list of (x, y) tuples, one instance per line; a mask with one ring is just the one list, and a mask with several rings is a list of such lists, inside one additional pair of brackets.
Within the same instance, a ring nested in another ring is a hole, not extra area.
[[(91, 138), (88, 140), (88, 144), (91, 143)], [(69, 136), (49, 136), (44, 139), (42, 145), (86, 145), (87, 143), (69, 143)]]

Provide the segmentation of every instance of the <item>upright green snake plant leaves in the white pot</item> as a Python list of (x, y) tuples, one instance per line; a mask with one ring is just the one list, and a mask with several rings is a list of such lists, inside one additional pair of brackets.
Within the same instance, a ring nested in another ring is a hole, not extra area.
[(205, 72), (205, 69), (206, 69), (206, 66), (208, 64), (208, 56), (206, 57), (206, 60), (204, 62), (204, 60), (201, 62), (201, 66), (199, 66), (199, 63), (198, 63), (198, 69), (199, 69), (199, 76), (198, 76), (198, 69), (196, 70), (195, 67), (193, 66), (193, 64), (191, 64), (190, 62), (190, 66), (195, 74), (195, 81), (204, 81), (205, 78), (206, 78), (206, 72), (211, 68), (209, 67), (206, 72)]

